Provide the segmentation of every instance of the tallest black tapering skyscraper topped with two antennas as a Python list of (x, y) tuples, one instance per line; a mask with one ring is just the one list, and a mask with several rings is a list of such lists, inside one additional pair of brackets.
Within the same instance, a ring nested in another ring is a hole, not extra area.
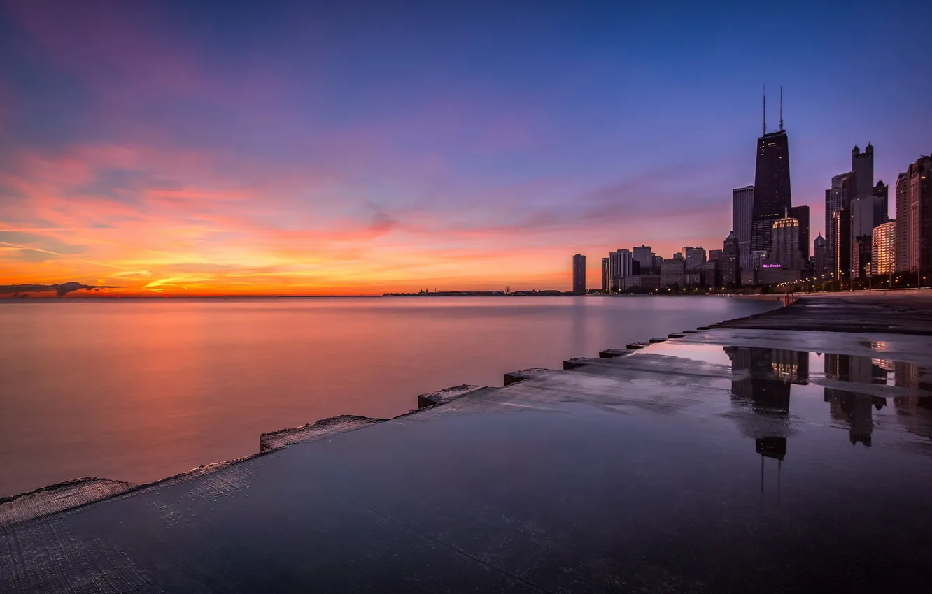
[[(751, 208), (751, 251), (773, 249), (774, 221), (792, 206), (789, 196), (789, 141), (783, 129), (783, 93), (780, 94), (780, 129), (767, 133), (764, 98), (763, 136), (758, 139), (754, 170), (754, 204)], [(808, 241), (806, 242), (808, 244)]]

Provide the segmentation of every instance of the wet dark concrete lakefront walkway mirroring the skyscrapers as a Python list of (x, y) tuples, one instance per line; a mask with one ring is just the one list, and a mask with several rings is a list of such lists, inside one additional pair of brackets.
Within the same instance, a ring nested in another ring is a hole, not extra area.
[(7, 523), (0, 591), (928, 592), (930, 346), (722, 328), (458, 386)]

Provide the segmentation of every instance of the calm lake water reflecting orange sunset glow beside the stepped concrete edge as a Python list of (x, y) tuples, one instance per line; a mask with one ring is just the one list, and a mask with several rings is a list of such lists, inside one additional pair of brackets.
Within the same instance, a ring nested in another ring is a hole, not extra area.
[(68, 300), (0, 304), (0, 495), (144, 482), (259, 434), (388, 417), (450, 385), (773, 308), (721, 297)]

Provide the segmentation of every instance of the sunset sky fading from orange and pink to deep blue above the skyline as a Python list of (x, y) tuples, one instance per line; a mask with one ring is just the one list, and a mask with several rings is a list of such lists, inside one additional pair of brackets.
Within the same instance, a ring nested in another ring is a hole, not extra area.
[(924, 4), (822, 4), (0, 0), (0, 285), (595, 288), (721, 248), (765, 83), (815, 238), (932, 152)]

